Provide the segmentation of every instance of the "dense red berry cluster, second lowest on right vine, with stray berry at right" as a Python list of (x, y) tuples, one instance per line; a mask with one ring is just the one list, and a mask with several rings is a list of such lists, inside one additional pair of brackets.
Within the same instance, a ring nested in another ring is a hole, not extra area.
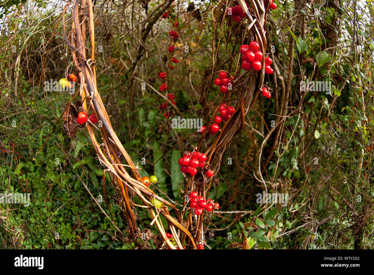
[[(217, 125), (218, 126), (218, 125)], [(197, 174), (197, 168), (204, 168), (206, 161), (206, 155), (200, 152), (186, 152), (184, 156), (178, 160), (179, 166), (181, 166), (181, 171), (184, 174), (189, 173), (190, 175)], [(208, 177), (212, 177), (214, 172), (209, 169), (206, 171)]]

